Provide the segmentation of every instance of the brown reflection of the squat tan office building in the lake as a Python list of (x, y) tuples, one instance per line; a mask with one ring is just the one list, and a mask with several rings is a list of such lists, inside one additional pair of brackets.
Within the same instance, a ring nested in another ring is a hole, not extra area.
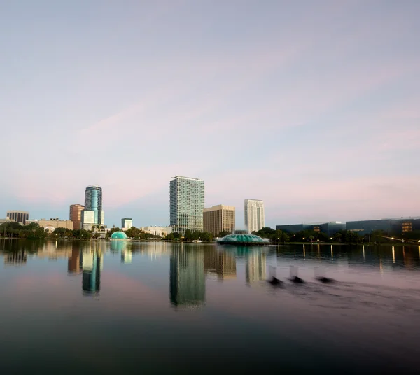
[(225, 250), (221, 246), (204, 251), (204, 271), (216, 274), (219, 280), (236, 278), (235, 250)]

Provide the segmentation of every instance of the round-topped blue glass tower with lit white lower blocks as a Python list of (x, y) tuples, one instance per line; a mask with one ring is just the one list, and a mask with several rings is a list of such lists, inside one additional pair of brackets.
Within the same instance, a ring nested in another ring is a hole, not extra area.
[(105, 217), (102, 209), (102, 187), (90, 185), (85, 190), (85, 209), (81, 212), (80, 229), (91, 230), (93, 225), (104, 225)]

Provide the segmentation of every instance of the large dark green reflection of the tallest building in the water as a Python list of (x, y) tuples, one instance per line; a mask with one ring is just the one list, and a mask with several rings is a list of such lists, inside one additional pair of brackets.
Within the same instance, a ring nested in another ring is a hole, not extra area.
[(174, 306), (201, 306), (205, 301), (204, 251), (202, 248), (172, 250), (169, 294)]

